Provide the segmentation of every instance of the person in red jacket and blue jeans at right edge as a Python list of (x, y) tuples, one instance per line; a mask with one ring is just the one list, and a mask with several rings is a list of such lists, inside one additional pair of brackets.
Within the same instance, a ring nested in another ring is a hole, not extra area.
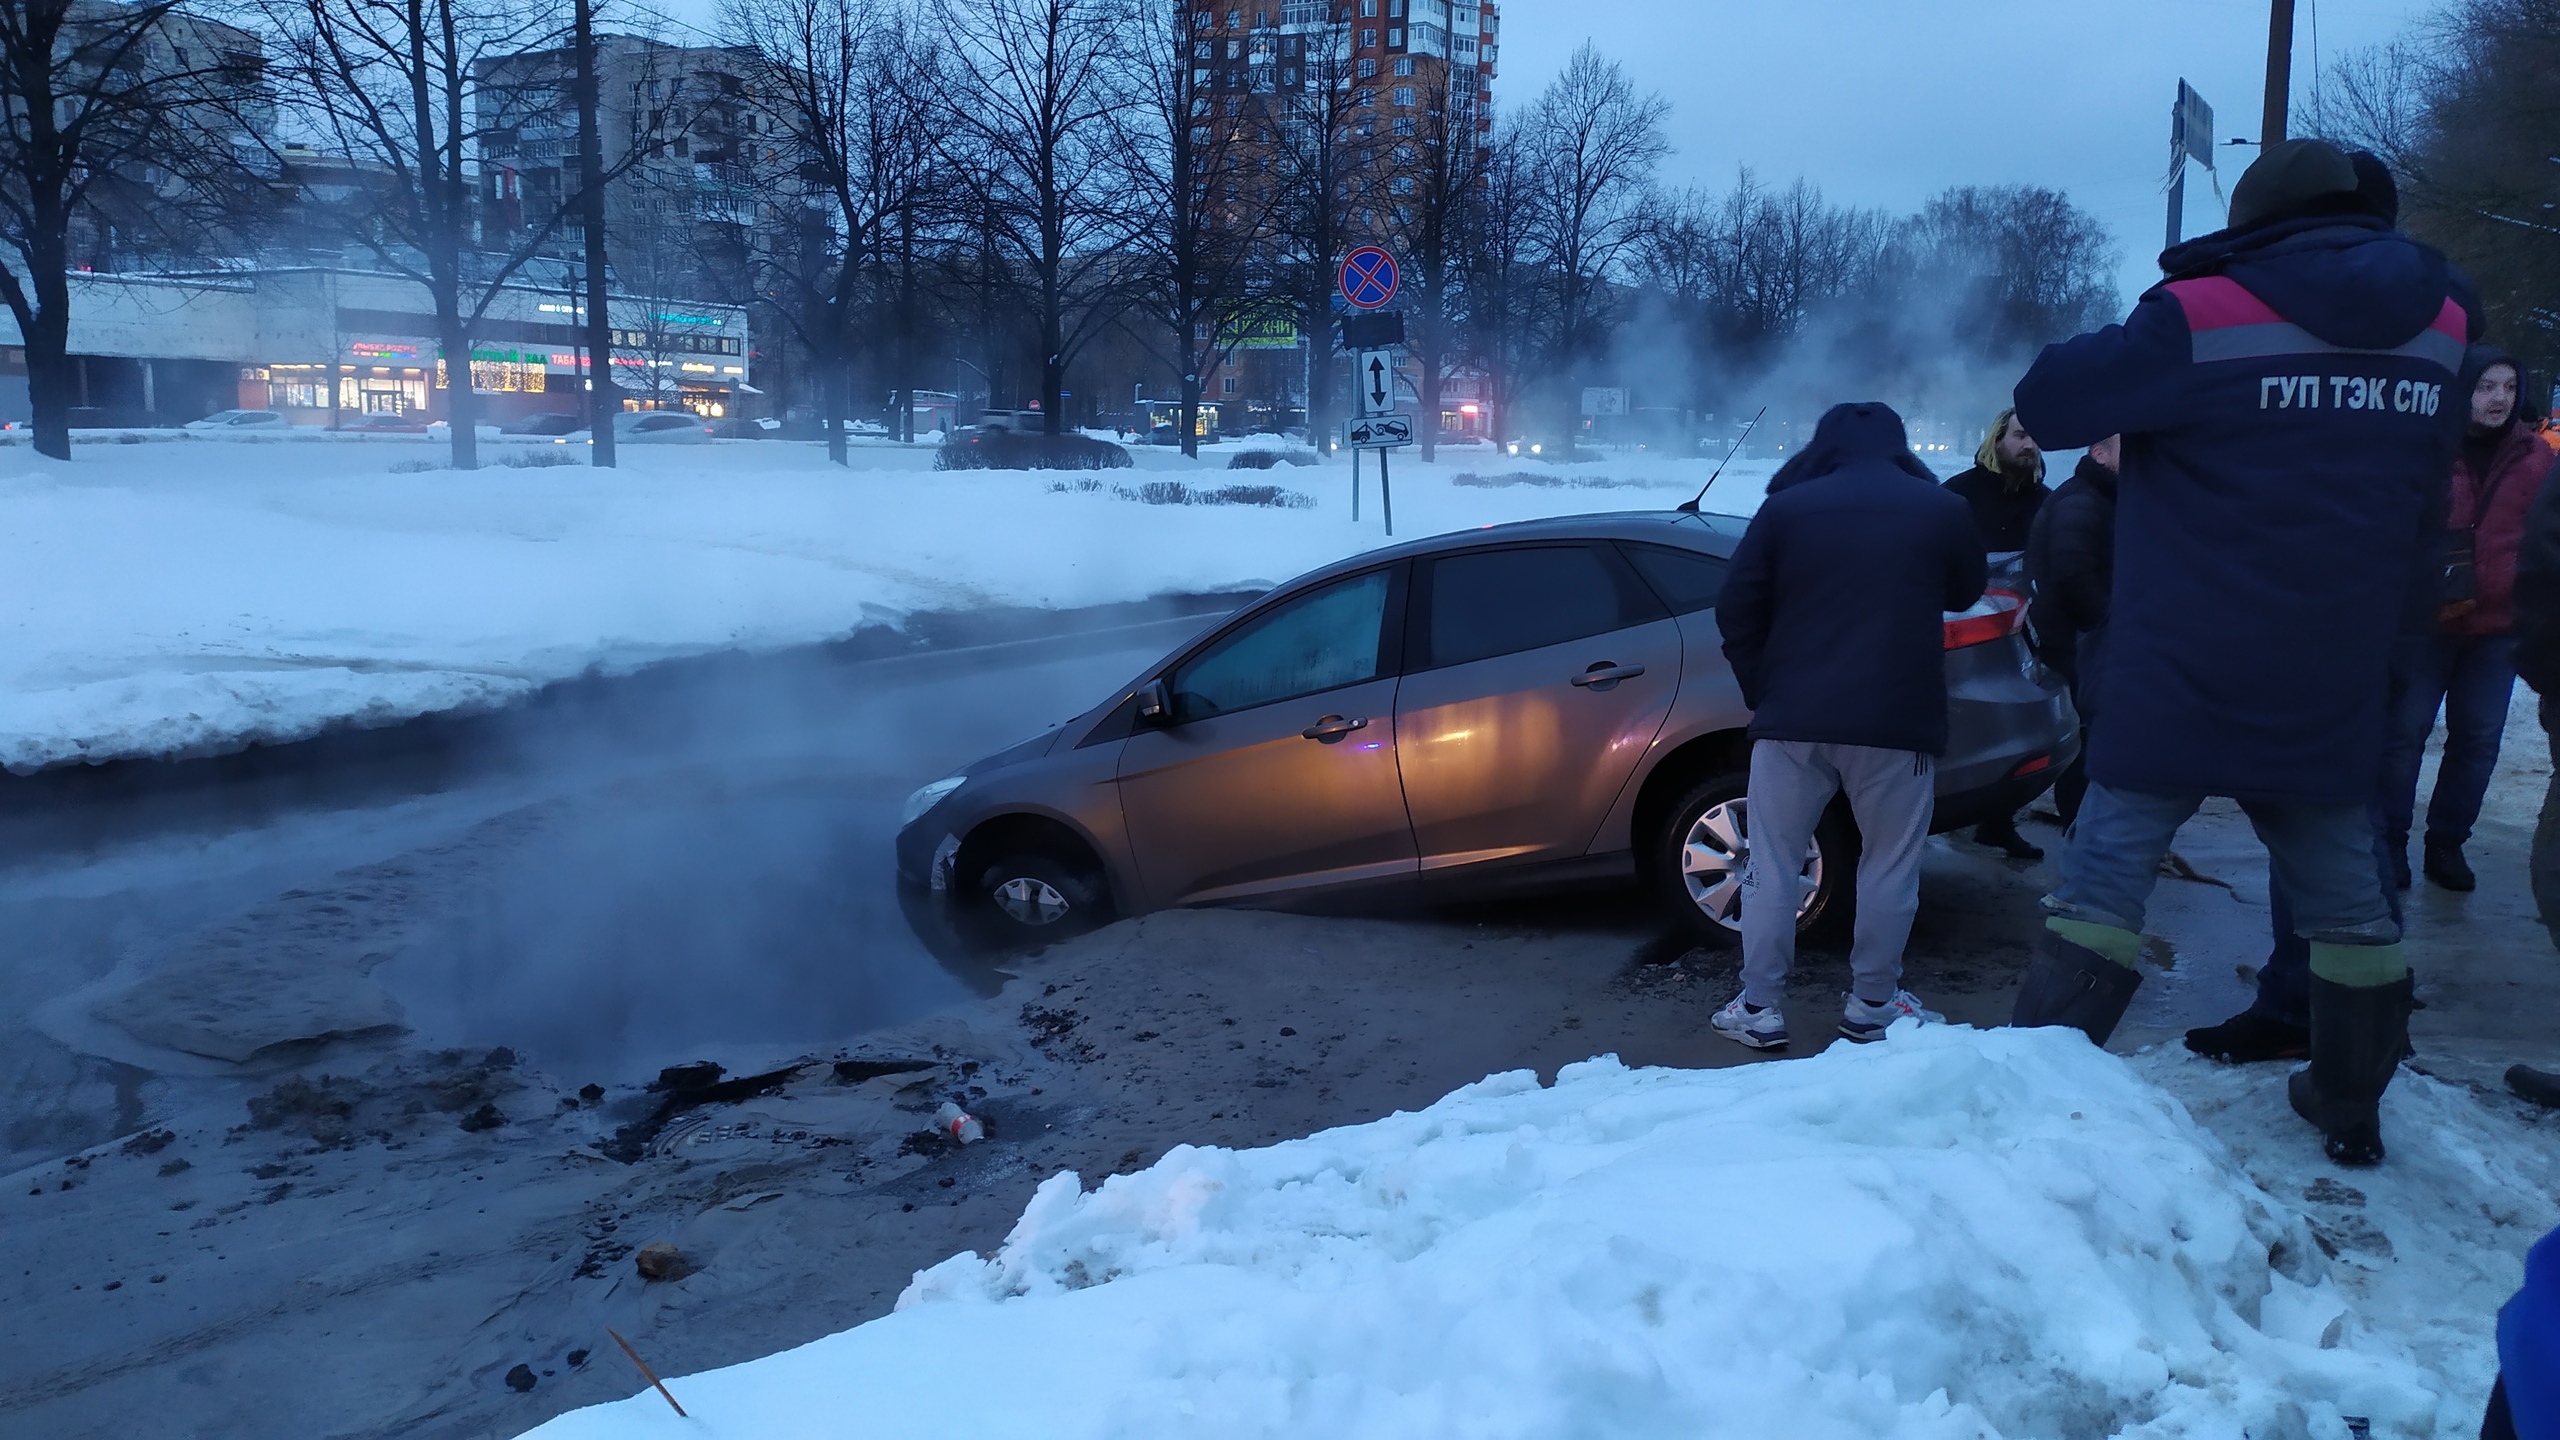
[(2473, 889), (2478, 876), (2463, 843), (2481, 820), (2488, 776), (2499, 769), (2506, 700), (2516, 689), (2516, 551), (2524, 512), (2552, 469), (2552, 448), (2519, 420), (2524, 372), (2496, 346), (2470, 346), (2455, 395), (2470, 405), (2463, 448), (2445, 489), (2445, 610), (2412, 664), (2409, 689), (2391, 717), (2383, 756), (2383, 846), (2399, 881), (2409, 884), (2409, 825), (2417, 817), (2417, 771), (2445, 712), (2445, 758), (2427, 799), (2427, 879)]

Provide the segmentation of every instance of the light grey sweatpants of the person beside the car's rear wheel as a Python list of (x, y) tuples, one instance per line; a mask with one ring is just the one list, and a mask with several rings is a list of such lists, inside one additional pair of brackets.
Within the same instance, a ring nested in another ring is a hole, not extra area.
[(1902, 986), (1902, 943), (1920, 912), (1920, 846), (1938, 794), (1938, 761), (1917, 751), (1756, 740), (1743, 815), (1743, 999), (1777, 1004), (1795, 969), (1795, 907), (1812, 828), (1833, 794), (1859, 820), (1859, 930), (1848, 974), (1861, 999)]

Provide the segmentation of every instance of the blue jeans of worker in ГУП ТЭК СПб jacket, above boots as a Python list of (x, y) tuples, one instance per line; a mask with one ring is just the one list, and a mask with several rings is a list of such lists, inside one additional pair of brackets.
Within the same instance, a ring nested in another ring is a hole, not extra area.
[[(2143, 933), (2143, 907), (2161, 884), (2161, 856), (2204, 794), (2150, 794), (2089, 784), (2063, 846), (2063, 881), (2045, 912)], [(2373, 820), (2363, 805), (2240, 805), (2268, 871), (2291, 897), (2304, 940), (2391, 945), (2399, 920), (2373, 863)]]

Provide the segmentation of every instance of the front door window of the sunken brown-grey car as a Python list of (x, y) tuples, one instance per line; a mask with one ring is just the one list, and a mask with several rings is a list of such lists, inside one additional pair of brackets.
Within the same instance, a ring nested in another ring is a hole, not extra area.
[(1382, 569), (1254, 615), (1172, 671), (1172, 720), (1180, 725), (1375, 679), (1385, 618)]

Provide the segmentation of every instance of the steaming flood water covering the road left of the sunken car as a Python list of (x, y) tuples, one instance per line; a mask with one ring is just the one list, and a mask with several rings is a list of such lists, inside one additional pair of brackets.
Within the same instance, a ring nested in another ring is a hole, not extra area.
[(927, 620), (504, 715), (0, 776), (0, 1174), (133, 1127), (156, 1076), (223, 1068), (84, 1022), (84, 986), (381, 861), (422, 879), (312, 904), (320, 943), (397, 935), (374, 981), (415, 1043), (504, 1043), (556, 1074), (827, 1045), (991, 989), (901, 917), (906, 792), (1085, 710), (1234, 602)]

